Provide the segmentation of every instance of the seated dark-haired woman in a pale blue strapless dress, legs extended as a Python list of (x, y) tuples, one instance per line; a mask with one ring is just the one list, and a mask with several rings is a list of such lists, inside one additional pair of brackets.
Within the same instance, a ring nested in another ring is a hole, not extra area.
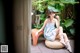
[(59, 16), (56, 16), (56, 19), (55, 14), (56, 12), (54, 12), (53, 9), (48, 9), (47, 19), (44, 21), (42, 28), (36, 33), (36, 35), (38, 35), (40, 31), (44, 30), (44, 37), (49, 41), (54, 41), (56, 35), (59, 34), (60, 42), (64, 44), (70, 52), (72, 52), (68, 37), (66, 33), (63, 33), (63, 28), (60, 26)]

